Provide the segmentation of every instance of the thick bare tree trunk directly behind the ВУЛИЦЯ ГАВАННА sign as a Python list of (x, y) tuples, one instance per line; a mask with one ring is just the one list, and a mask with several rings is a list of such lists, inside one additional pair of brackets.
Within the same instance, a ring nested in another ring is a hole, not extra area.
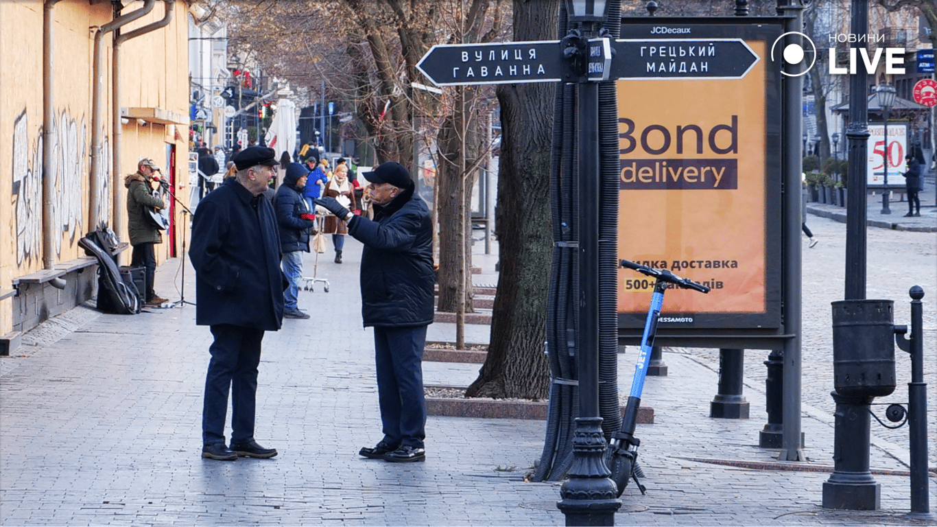
[[(556, 38), (558, 0), (514, 0), (514, 40)], [(498, 294), (488, 357), (466, 397), (544, 399), (543, 354), (553, 237), (550, 149), (553, 84), (502, 84), (498, 166)]]

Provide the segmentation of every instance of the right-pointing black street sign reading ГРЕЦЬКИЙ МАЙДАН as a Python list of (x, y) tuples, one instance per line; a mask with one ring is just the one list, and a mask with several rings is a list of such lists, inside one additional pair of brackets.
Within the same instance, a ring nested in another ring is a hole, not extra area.
[(613, 43), (613, 79), (741, 79), (761, 57), (741, 38), (626, 38)]

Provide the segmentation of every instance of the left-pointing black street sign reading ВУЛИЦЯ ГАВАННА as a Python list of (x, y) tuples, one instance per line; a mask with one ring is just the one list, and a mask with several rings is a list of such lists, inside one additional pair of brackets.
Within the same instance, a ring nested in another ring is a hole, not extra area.
[(556, 83), (569, 73), (559, 40), (439, 44), (416, 68), (437, 86)]

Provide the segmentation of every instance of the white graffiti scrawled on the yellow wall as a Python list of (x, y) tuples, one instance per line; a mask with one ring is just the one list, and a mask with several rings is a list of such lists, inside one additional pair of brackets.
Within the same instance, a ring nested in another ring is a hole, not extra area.
[[(82, 174), (88, 158), (87, 127), (66, 110), (53, 120), (52, 158), (49, 180), (55, 188), (52, 198), (53, 249), (61, 256), (62, 239), (73, 244), (82, 235)], [(29, 138), (25, 110), (13, 124), (13, 200), (17, 264), (37, 261), (42, 254), (42, 143), (41, 127), (34, 140)], [(105, 144), (105, 148), (107, 148)], [(103, 178), (102, 178), (103, 179)], [(99, 189), (106, 207), (108, 182)], [(100, 217), (100, 216), (98, 216)]]

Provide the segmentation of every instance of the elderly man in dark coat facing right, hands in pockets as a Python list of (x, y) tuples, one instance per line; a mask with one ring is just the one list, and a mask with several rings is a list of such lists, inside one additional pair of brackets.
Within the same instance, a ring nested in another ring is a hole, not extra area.
[[(260, 340), (283, 322), (285, 279), (274, 207), (262, 192), (275, 175), (272, 148), (251, 146), (231, 160), (237, 175), (208, 193), (192, 220), (188, 255), (195, 267), (195, 322), (215, 341), (205, 378), (201, 457), (273, 458), (254, 440)], [(231, 447), (225, 415), (231, 391)]]

